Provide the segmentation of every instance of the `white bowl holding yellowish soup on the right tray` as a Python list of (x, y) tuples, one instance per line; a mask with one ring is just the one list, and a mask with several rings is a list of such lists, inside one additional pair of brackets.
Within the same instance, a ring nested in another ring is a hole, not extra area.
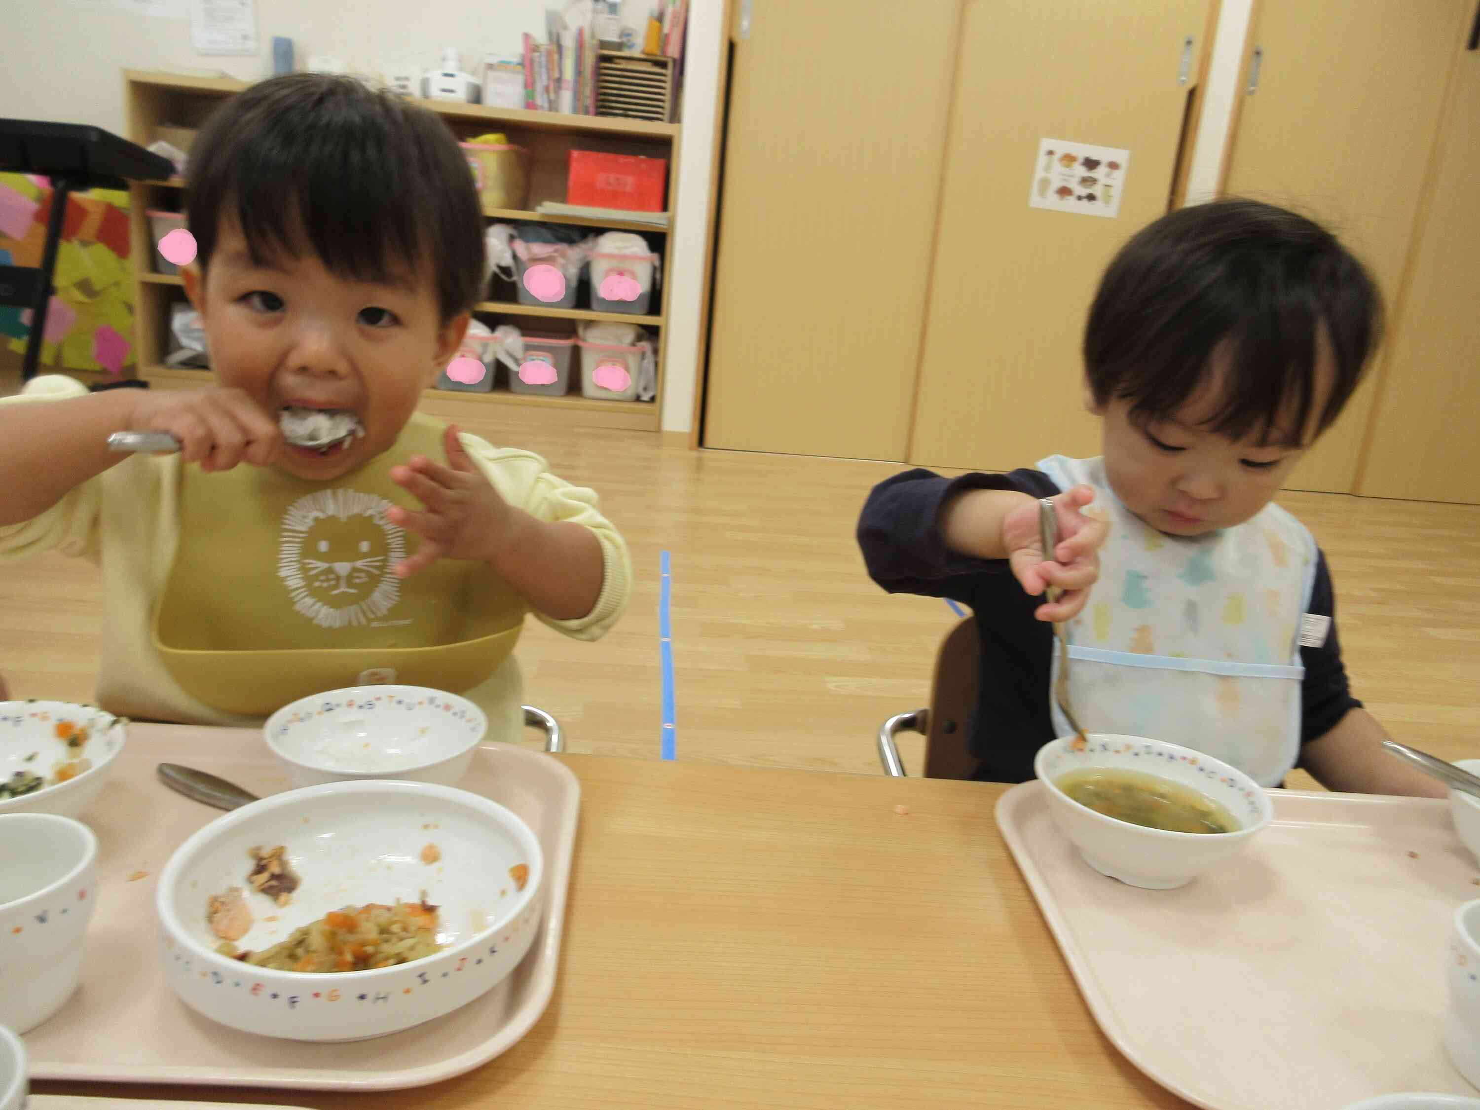
[[(1243, 771), (1190, 747), (1140, 736), (1091, 733), (1054, 740), (1039, 749), (1033, 771), (1048, 792), (1054, 823), (1079, 848), (1085, 863), (1131, 887), (1171, 889), (1243, 851), (1270, 823), (1270, 796)], [(1242, 827), (1231, 833), (1177, 833), (1147, 829), (1095, 813), (1058, 789), (1060, 776), (1086, 768), (1146, 771), (1190, 786), (1221, 802)]]

